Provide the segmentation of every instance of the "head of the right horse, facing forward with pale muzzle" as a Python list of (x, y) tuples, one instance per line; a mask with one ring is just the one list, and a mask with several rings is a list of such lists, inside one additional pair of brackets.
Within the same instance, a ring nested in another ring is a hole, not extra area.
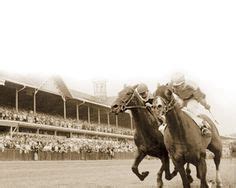
[(156, 107), (163, 113), (171, 110), (175, 105), (172, 89), (168, 85), (161, 85), (154, 93)]

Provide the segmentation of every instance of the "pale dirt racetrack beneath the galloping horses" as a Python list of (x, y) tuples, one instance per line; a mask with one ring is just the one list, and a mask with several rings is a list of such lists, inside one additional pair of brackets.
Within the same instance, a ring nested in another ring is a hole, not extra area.
[[(96, 161), (1, 161), (1, 188), (150, 188), (156, 187), (156, 173), (160, 161), (144, 160), (140, 171), (148, 170), (143, 181), (131, 172), (133, 160)], [(208, 179), (215, 179), (213, 160), (207, 160)], [(191, 166), (194, 182), (199, 187), (195, 168)], [(221, 163), (224, 188), (236, 188), (236, 158)], [(171, 181), (164, 180), (164, 187), (182, 187), (179, 175)], [(214, 186), (213, 186), (214, 187)]]

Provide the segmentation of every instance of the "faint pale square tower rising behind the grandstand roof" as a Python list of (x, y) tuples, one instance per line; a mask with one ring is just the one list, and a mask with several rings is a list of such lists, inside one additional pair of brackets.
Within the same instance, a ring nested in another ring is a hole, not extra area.
[(106, 80), (93, 81), (93, 88), (94, 88), (94, 96), (99, 101), (104, 101), (107, 99)]

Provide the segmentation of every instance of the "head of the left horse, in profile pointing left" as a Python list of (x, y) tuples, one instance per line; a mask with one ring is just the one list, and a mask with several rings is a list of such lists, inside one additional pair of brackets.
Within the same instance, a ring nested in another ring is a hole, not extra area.
[(135, 91), (137, 86), (138, 85), (135, 85), (133, 87), (127, 86), (119, 92), (118, 97), (111, 105), (111, 110), (113, 113), (118, 114), (120, 112), (124, 112), (125, 110), (127, 110), (128, 106), (133, 105), (132, 99), (134, 98), (134, 96), (137, 96), (137, 93)]

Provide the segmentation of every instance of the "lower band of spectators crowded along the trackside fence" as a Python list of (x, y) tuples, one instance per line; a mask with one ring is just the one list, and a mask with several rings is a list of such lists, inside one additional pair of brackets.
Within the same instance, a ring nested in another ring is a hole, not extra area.
[(10, 137), (9, 135), (0, 136), (0, 151), (5, 149), (20, 150), (20, 153), (29, 153), (30, 151), (47, 152), (100, 152), (113, 155), (116, 152), (134, 152), (135, 145), (133, 141), (125, 139), (117, 140), (101, 137), (65, 138), (58, 136), (18, 134)]

